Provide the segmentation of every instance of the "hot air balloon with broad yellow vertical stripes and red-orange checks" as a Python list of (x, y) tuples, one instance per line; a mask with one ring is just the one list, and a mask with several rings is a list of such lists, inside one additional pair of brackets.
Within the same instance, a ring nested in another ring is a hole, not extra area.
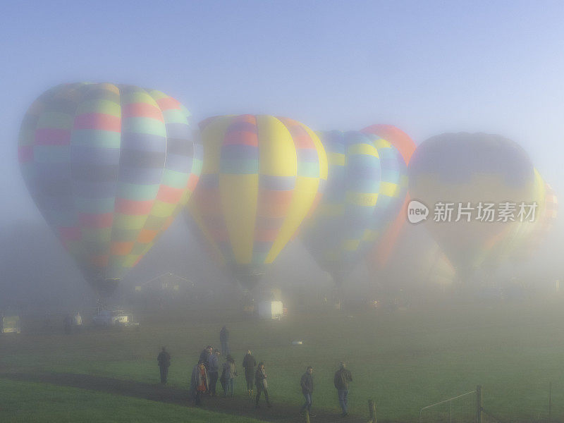
[(188, 212), (217, 261), (250, 289), (319, 200), (325, 150), (288, 118), (219, 116), (200, 128), (204, 164)]

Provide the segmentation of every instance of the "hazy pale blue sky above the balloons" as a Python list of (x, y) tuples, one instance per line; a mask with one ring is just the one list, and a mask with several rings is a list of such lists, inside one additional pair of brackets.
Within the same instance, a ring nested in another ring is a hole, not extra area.
[(564, 192), (562, 1), (4, 1), (0, 221), (35, 219), (16, 159), (51, 85), (154, 87), (211, 114), (513, 138)]

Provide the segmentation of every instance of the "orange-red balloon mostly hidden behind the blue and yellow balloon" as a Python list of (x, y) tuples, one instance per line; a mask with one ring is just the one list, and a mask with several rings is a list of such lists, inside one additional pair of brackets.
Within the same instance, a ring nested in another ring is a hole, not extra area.
[[(403, 130), (397, 128), (393, 125), (376, 124), (370, 125), (367, 128), (362, 129), (360, 132), (367, 134), (378, 135), (384, 140), (388, 141), (396, 147), (398, 152), (403, 157), (405, 165), (409, 165), (411, 156), (415, 152), (415, 142), (407, 135)], [(407, 195), (403, 195), (401, 199), (403, 202), (401, 209), (407, 210), (407, 202), (409, 199)], [(378, 271), (386, 266), (388, 259), (393, 254), (398, 243), (398, 238), (403, 231), (405, 226), (405, 213), (398, 213), (396, 219), (391, 223), (391, 225), (386, 229), (386, 233), (381, 237), (379, 242), (374, 245), (372, 251), (367, 255), (367, 264), (373, 271)]]

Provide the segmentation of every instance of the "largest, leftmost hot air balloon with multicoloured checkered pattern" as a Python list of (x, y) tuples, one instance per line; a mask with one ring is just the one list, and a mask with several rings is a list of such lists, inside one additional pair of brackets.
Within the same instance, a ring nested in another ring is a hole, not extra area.
[(101, 296), (152, 247), (195, 188), (201, 158), (188, 110), (131, 85), (44, 92), (19, 137), (27, 188)]

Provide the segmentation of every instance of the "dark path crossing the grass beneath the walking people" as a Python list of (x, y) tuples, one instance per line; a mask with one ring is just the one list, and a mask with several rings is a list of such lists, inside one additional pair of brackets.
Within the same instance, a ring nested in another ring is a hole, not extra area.
[[(12, 379), (16, 381), (44, 382), (59, 386), (71, 386), (73, 388), (90, 389), (102, 391), (114, 395), (143, 398), (145, 400), (160, 401), (162, 403), (173, 403), (192, 407), (188, 390), (162, 386), (160, 384), (145, 384), (137, 381), (123, 381), (109, 377), (92, 376), (90, 374), (73, 373), (20, 373), (2, 372), (0, 379)], [(274, 407), (267, 408), (264, 403), (258, 410), (255, 409), (252, 400), (241, 400), (240, 398), (204, 397), (203, 408), (214, 412), (223, 412), (233, 415), (242, 415), (264, 420), (266, 422), (288, 422), (303, 423), (305, 417), (298, 413), (295, 405), (273, 403)], [(367, 418), (348, 416), (341, 417), (340, 414), (314, 410), (312, 423), (366, 423)]]

